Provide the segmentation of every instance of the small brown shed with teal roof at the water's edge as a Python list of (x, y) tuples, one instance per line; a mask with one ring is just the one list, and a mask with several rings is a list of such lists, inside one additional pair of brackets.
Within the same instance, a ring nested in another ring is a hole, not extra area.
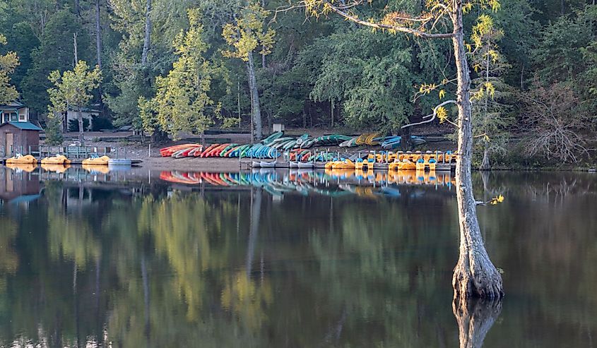
[(31, 122), (4, 122), (0, 124), (0, 155), (11, 157), (39, 150), (42, 128)]

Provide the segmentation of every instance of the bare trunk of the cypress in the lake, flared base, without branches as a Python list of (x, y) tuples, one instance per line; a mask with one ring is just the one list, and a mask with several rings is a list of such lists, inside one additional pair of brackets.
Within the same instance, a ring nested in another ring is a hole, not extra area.
[(471, 157), (473, 152), (473, 126), (471, 120), (470, 85), (462, 25), (462, 0), (456, 0), (454, 12), (454, 58), (458, 79), (458, 153), (456, 161), (456, 198), (460, 224), (460, 255), (454, 268), (452, 286), (455, 299), (482, 297), (499, 299), (503, 296), (502, 276), (491, 262), (481, 236), (477, 220)]

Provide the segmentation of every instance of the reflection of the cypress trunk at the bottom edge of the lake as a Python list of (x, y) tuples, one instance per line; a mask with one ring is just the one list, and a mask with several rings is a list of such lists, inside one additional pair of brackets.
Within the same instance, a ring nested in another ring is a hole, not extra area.
[(501, 299), (476, 299), (452, 302), (459, 328), (460, 348), (483, 347), (485, 335), (502, 311)]

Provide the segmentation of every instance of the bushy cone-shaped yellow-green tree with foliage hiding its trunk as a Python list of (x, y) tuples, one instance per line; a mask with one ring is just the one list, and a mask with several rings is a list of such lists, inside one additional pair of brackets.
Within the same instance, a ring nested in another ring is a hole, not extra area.
[(208, 92), (213, 76), (220, 69), (203, 56), (208, 44), (203, 42), (203, 26), (198, 10), (188, 13), (190, 28), (179, 32), (172, 47), (179, 57), (166, 77), (158, 76), (158, 92), (152, 100), (139, 99), (141, 119), (147, 131), (155, 125), (176, 138), (180, 132), (203, 133), (220, 116), (220, 105)]

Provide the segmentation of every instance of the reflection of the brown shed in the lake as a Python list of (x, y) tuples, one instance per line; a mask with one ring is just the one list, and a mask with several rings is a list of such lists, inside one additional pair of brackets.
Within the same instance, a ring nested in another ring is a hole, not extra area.
[(0, 200), (30, 202), (40, 197), (40, 180), (28, 172), (0, 167)]

